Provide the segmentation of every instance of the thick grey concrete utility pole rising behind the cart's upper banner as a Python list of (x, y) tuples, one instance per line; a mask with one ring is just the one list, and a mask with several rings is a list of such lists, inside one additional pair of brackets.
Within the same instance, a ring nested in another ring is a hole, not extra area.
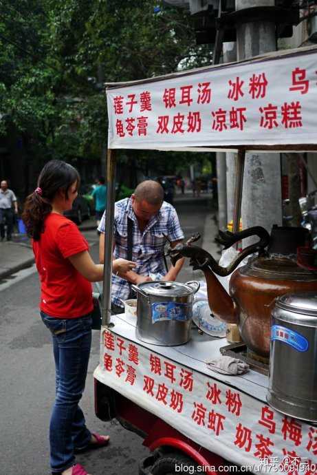
[[(274, 6), (274, 0), (236, 0), (236, 10)], [(274, 19), (259, 19), (237, 25), (237, 59), (276, 51)], [(245, 156), (241, 218), (243, 229), (263, 226), (270, 232), (273, 224), (282, 223), (281, 160), (279, 154)], [(251, 240), (250, 240), (251, 239)], [(243, 240), (243, 246), (253, 242)]]

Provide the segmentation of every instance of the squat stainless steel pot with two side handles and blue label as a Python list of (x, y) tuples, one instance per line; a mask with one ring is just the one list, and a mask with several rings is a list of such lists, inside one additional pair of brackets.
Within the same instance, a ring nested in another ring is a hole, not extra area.
[(190, 339), (194, 294), (199, 282), (144, 282), (138, 295), (136, 337), (146, 343), (176, 346)]

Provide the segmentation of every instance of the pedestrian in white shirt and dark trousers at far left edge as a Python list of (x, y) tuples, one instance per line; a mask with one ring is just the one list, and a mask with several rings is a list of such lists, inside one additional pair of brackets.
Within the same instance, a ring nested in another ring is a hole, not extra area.
[[(13, 209), (14, 208), (14, 209)], [(14, 213), (18, 214), (17, 197), (8, 189), (8, 181), (2, 180), (0, 184), (0, 235), (1, 241), (5, 238), (5, 223), (7, 225), (7, 241), (12, 239)]]

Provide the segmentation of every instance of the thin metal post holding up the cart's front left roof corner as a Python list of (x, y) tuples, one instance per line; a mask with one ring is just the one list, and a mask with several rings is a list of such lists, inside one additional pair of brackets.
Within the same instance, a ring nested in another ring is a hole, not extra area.
[(111, 275), (113, 255), (113, 218), (116, 200), (116, 154), (107, 151), (107, 212), (105, 223), (105, 258), (103, 272), (102, 325), (112, 326), (111, 318)]

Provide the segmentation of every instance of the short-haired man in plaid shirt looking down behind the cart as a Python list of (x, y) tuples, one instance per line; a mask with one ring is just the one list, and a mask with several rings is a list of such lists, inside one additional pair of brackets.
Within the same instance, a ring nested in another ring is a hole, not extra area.
[[(146, 180), (136, 187), (131, 198), (116, 202), (114, 215), (114, 249), (113, 259), (127, 259), (128, 224), (133, 221), (132, 260), (136, 267), (126, 275), (127, 280), (112, 275), (111, 308), (113, 313), (122, 313), (122, 300), (133, 296), (131, 284), (151, 281), (150, 273), (161, 273), (163, 280), (174, 281), (182, 268), (184, 259), (178, 260), (166, 273), (164, 268), (164, 235), (171, 241), (171, 246), (184, 239), (177, 213), (171, 204), (164, 202), (164, 190), (160, 183)], [(100, 225), (100, 262), (105, 253), (105, 213)], [(122, 300), (121, 300), (122, 299)]]

